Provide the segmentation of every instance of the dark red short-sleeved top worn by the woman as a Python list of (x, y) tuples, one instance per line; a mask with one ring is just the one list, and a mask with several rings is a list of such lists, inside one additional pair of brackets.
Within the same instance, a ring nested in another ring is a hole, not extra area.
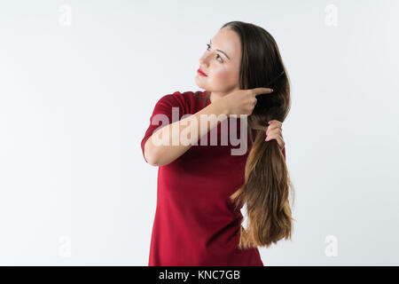
[[(151, 123), (155, 114), (165, 114), (168, 123), (175, 122), (172, 107), (178, 107), (180, 120), (208, 106), (206, 95), (206, 91), (176, 91), (160, 98), (141, 142), (143, 156), (145, 141), (160, 127), (161, 122)], [(226, 122), (230, 132), (231, 122)], [(251, 142), (247, 137), (246, 154), (231, 154), (231, 148), (243, 146), (231, 146), (230, 138), (227, 146), (222, 145), (221, 125), (217, 125), (216, 146), (209, 145), (215, 127), (207, 132), (207, 146), (200, 145), (199, 138), (199, 145), (159, 167), (149, 266), (263, 266), (258, 248), (236, 248), (243, 216), (229, 199), (244, 184)], [(240, 137), (239, 125), (237, 118), (237, 136), (233, 137)], [(286, 157), (285, 149), (283, 154)]]

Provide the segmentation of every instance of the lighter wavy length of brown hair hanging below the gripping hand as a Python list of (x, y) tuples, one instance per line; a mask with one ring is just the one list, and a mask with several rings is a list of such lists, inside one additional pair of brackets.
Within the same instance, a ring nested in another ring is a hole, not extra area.
[(282, 239), (292, 240), (289, 197), (290, 191), (293, 197), (293, 185), (277, 141), (263, 140), (256, 137), (246, 160), (245, 183), (230, 197), (236, 209), (246, 203), (248, 228), (241, 226), (239, 248), (270, 247)]

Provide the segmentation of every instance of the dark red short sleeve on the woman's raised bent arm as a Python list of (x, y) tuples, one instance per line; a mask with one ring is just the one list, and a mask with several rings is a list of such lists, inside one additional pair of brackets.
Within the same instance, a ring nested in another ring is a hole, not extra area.
[[(164, 123), (159, 121), (159, 119), (154, 119), (155, 115), (163, 114), (165, 118), (168, 118), (168, 124), (170, 124), (172, 122), (179, 121), (180, 118), (186, 113), (186, 111), (187, 106), (184, 99), (184, 94), (181, 94), (178, 91), (174, 92), (173, 94), (165, 95), (158, 100), (153, 108), (153, 114), (150, 117), (150, 126), (145, 131), (145, 136), (141, 140), (141, 150), (144, 158), (145, 142), (153, 135), (153, 132), (155, 130), (158, 130), (162, 123)], [(145, 159), (145, 162), (148, 161)]]

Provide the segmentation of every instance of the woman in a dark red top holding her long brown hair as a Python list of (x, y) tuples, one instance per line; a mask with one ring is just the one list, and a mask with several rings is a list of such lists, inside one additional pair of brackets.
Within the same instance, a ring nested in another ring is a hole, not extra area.
[[(228, 22), (207, 44), (195, 81), (206, 91), (160, 98), (141, 142), (145, 162), (159, 166), (149, 265), (262, 266), (257, 247), (291, 239), (293, 220), (281, 134), (290, 84), (278, 45), (263, 28)], [(225, 119), (201, 124), (201, 115)], [(204, 145), (215, 130), (216, 145)], [(250, 138), (244, 154), (223, 143), (234, 133)]]

